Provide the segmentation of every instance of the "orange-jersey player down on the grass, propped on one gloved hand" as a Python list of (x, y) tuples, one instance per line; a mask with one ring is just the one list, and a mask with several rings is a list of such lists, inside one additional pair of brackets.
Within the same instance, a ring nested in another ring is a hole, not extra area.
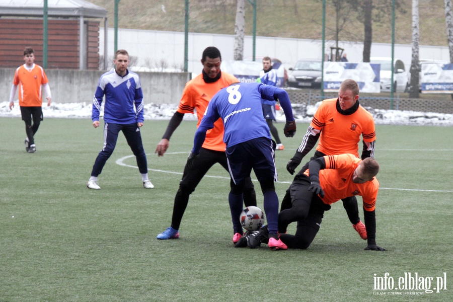
[[(360, 195), (363, 199), (368, 246), (365, 250), (385, 251), (376, 245), (375, 204), (379, 164), (372, 158), (363, 161), (352, 154), (324, 156), (309, 163), (289, 187), (292, 207), (278, 214), (280, 240), (290, 249), (307, 249), (318, 233), (324, 211), (342, 198)], [(289, 223), (297, 221), (295, 235), (284, 234)], [(258, 247), (267, 243), (268, 228), (243, 237), (237, 247)]]

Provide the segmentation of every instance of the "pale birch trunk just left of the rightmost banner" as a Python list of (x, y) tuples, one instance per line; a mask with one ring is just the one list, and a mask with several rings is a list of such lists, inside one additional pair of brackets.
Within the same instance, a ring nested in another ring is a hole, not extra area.
[(412, 63), (411, 63), (411, 83), (409, 97), (418, 98), (419, 95), (419, 53), (420, 53), (420, 24), (418, 18), (418, 0), (412, 0)]

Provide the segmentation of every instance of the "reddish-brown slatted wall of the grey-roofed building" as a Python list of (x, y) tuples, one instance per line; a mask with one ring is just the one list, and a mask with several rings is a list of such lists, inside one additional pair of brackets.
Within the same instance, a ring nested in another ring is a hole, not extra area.
[[(88, 69), (99, 66), (99, 22), (88, 24)], [(47, 68), (79, 69), (79, 20), (48, 20)], [(17, 68), (24, 63), (24, 48), (35, 51), (35, 63), (42, 65), (42, 19), (0, 19), (2, 67)]]

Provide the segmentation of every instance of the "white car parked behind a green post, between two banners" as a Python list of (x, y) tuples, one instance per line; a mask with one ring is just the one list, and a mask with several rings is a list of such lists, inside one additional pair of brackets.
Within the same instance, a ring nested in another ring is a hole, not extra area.
[[(381, 91), (390, 91), (392, 79), (392, 58), (391, 57), (370, 57), (370, 63), (381, 64)], [(393, 69), (394, 92), (404, 92), (407, 87), (407, 71), (404, 68), (404, 62), (394, 58)]]

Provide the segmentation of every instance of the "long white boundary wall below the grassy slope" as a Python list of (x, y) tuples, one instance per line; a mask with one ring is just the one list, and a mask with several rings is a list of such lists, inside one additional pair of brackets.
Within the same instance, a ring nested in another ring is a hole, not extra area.
[[(104, 29), (99, 30), (100, 41), (104, 41)], [(253, 55), (252, 36), (245, 36), (244, 57)], [(104, 54), (101, 43), (99, 53)], [(188, 71), (198, 74), (201, 72), (201, 54), (207, 46), (215, 46), (220, 50), (222, 60), (234, 59), (234, 35), (189, 33)], [(325, 52), (330, 54), (330, 46), (335, 41), (326, 41)], [(363, 43), (340, 41), (339, 47), (345, 49), (350, 62), (362, 59)], [(113, 58), (114, 29), (108, 30), (108, 55)], [(118, 29), (118, 48), (126, 49), (131, 56), (138, 58), (138, 65), (150, 67), (159, 65), (161, 60), (168, 67), (184, 68), (184, 32), (166, 32), (152, 30)], [(308, 39), (256, 37), (255, 55), (279, 58), (287, 66), (293, 66), (299, 59), (321, 58), (322, 41)], [(371, 56), (390, 57), (391, 44), (373, 43)], [(409, 44), (395, 44), (395, 58), (405, 63), (409, 70), (412, 59), (412, 49)], [(420, 46), (420, 59), (435, 59), (449, 62), (447, 46)], [(111, 60), (109, 60), (111, 61)]]

